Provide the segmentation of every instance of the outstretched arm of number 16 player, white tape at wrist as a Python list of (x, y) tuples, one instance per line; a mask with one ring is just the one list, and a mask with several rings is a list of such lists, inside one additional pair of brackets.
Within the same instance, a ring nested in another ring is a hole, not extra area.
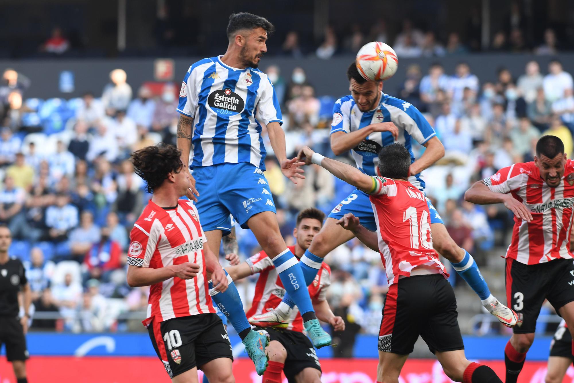
[(361, 173), (356, 167), (315, 153), (308, 146), (303, 147), (299, 151), (297, 159), (304, 161), (307, 165), (316, 163), (317, 165), (327, 169), (335, 177), (355, 186), (357, 189), (364, 190), (366, 192), (373, 189), (373, 178), (369, 175)]

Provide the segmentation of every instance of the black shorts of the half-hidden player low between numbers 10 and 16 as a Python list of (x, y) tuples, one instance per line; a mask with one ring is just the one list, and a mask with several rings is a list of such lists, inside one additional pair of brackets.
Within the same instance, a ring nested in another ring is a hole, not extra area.
[(263, 334), (269, 334), (270, 340), (277, 340), (285, 347), (287, 359), (283, 367), (283, 373), (289, 383), (295, 382), (295, 376), (307, 367), (321, 371), (319, 358), (311, 340), (305, 334), (292, 330), (281, 330), (273, 327), (255, 327)]

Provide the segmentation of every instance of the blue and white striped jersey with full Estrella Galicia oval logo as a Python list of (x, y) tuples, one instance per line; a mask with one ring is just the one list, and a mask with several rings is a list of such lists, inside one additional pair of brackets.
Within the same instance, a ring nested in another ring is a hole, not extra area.
[(177, 111), (193, 118), (191, 166), (250, 162), (265, 170), (261, 124), (283, 123), (267, 75), (226, 66), (221, 56), (189, 67)]

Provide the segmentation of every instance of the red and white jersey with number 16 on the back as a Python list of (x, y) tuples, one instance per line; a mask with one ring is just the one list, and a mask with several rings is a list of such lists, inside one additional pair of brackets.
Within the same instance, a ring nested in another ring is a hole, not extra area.
[(448, 278), (430, 235), (426, 197), (409, 181), (373, 178), (371, 205), (389, 286), (401, 277), (440, 273)]

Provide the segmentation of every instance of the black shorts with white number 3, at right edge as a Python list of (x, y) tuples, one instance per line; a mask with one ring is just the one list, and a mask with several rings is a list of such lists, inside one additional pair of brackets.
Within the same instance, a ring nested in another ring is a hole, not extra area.
[(515, 334), (529, 334), (536, 329), (536, 320), (544, 300), (556, 312), (574, 301), (574, 263), (572, 259), (554, 259), (537, 265), (525, 265), (506, 259), (506, 301), (518, 317)]

